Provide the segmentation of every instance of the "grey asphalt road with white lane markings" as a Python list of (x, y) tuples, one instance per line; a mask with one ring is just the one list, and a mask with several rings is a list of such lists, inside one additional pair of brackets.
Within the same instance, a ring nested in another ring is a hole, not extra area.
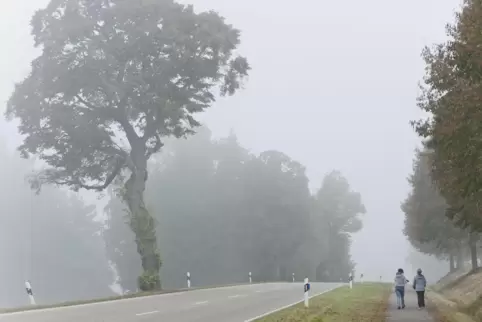
[[(342, 284), (313, 283), (310, 296)], [(303, 300), (302, 283), (220, 287), (0, 315), (1, 322), (245, 322)]]

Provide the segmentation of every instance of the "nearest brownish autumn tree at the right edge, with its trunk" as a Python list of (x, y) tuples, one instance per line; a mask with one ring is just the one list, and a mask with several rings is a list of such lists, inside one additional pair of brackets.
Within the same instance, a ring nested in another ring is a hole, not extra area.
[(430, 117), (414, 122), (433, 150), (432, 178), (450, 208), (447, 214), (471, 230), (473, 263), (482, 232), (482, 3), (465, 0), (449, 40), (423, 52), (427, 67), (419, 106)]

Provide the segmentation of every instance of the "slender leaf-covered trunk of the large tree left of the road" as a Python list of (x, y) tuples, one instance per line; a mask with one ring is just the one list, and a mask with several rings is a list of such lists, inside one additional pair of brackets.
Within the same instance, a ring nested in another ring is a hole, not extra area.
[(161, 260), (157, 249), (155, 221), (144, 203), (147, 180), (146, 163), (132, 171), (125, 184), (124, 196), (130, 210), (130, 227), (136, 236), (137, 251), (141, 256), (144, 270), (144, 273), (139, 277), (139, 288), (143, 291), (160, 289), (161, 287), (159, 276)]

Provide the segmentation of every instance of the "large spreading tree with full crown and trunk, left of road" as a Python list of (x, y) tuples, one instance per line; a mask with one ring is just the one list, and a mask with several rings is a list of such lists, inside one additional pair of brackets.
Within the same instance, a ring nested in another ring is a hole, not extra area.
[(155, 224), (144, 203), (147, 163), (163, 137), (199, 125), (194, 114), (217, 91), (240, 88), (249, 65), (234, 53), (239, 30), (172, 0), (52, 0), (34, 15), (32, 35), (42, 54), (6, 115), (20, 120), (22, 155), (47, 165), (35, 185), (101, 191), (121, 183), (144, 271), (140, 287), (159, 288)]

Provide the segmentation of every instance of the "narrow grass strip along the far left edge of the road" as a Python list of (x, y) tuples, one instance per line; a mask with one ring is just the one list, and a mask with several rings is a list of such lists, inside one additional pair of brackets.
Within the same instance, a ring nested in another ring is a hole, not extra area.
[(211, 288), (255, 285), (255, 284), (259, 284), (259, 283), (225, 284), (225, 285), (212, 285), (212, 286), (205, 286), (205, 287), (193, 287), (193, 288), (190, 288), (190, 289), (185, 288), (185, 289), (173, 289), (173, 290), (160, 290), (160, 291), (154, 291), (154, 292), (137, 292), (137, 293), (129, 293), (129, 294), (125, 294), (125, 295), (96, 298), (96, 299), (91, 299), (91, 300), (69, 301), (69, 302), (61, 302), (61, 303), (48, 304), (48, 305), (30, 305), (30, 306), (23, 306), (23, 307), (16, 307), (16, 308), (6, 308), (6, 309), (0, 309), (0, 314), (24, 312), (24, 311), (32, 311), (32, 310), (42, 310), (42, 309), (54, 309), (54, 308), (61, 308), (61, 307), (68, 307), (68, 306), (86, 305), (86, 304), (93, 304), (93, 303), (102, 303), (102, 302), (118, 301), (118, 300), (125, 300), (125, 299), (133, 299), (133, 298), (145, 297), (145, 296), (155, 296), (155, 295), (169, 294), (169, 293), (189, 292), (189, 291), (205, 290), (205, 289), (211, 289)]

